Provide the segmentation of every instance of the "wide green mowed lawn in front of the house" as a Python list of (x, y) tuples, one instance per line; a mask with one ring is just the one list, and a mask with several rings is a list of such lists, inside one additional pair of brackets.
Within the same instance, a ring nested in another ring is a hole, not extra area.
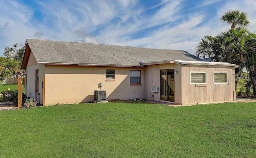
[(0, 111), (0, 157), (255, 157), (256, 103)]

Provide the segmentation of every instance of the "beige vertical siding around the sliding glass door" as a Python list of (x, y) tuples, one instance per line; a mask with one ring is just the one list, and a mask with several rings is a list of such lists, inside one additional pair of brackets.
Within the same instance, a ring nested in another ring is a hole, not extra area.
[[(169, 70), (174, 69), (174, 71), (178, 71), (176, 75), (174, 73), (174, 82), (175, 82), (175, 93), (174, 100), (176, 104), (181, 104), (182, 96), (181, 96), (181, 66), (178, 64), (159, 64), (159, 65), (147, 65), (145, 66), (145, 96), (146, 99), (152, 100), (152, 95), (154, 95), (154, 100), (160, 101), (160, 72), (161, 70)], [(151, 92), (151, 87), (159, 87), (159, 93)]]

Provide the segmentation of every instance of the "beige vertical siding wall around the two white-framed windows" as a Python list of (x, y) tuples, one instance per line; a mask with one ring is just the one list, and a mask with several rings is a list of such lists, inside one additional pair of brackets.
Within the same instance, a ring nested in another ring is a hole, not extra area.
[[(206, 71), (205, 87), (190, 84), (190, 71)], [(213, 84), (214, 72), (228, 72), (228, 84)], [(182, 65), (182, 105), (234, 101), (234, 90), (234, 67)]]

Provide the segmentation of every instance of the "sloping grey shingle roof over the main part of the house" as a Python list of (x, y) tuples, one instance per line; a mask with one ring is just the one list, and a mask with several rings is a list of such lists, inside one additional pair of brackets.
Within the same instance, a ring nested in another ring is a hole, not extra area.
[(142, 61), (202, 61), (195, 55), (182, 50), (41, 39), (27, 39), (26, 41), (38, 63), (140, 66)]

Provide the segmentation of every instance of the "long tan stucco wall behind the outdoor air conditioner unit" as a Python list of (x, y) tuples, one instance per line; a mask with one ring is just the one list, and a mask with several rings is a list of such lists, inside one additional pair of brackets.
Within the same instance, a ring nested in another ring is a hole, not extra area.
[[(115, 81), (106, 81), (106, 69)], [(141, 70), (142, 85), (130, 85), (130, 70)], [(100, 82), (108, 99), (144, 98), (144, 68), (45, 65), (45, 105), (93, 101)]]

